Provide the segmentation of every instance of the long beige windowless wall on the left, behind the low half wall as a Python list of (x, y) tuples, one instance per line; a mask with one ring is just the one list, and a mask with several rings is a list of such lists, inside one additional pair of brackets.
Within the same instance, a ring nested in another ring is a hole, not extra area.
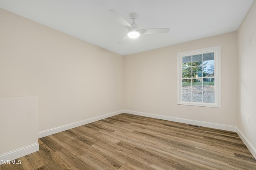
[(38, 131), (123, 109), (121, 55), (3, 9), (0, 37), (0, 97), (38, 96)]

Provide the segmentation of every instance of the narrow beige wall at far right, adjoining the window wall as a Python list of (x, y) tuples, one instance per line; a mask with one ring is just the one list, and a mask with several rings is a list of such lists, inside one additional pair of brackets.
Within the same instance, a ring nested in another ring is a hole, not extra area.
[[(237, 127), (254, 147), (256, 158), (256, 1), (238, 29), (238, 58), (239, 58), (239, 111)], [(252, 44), (248, 41), (252, 36)], [(250, 125), (248, 117), (251, 118)]]

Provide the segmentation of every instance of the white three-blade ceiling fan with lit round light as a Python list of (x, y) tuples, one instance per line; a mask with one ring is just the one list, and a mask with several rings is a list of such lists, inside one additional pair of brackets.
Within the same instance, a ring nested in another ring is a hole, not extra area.
[(127, 35), (122, 38), (118, 44), (122, 44), (126, 39), (137, 38), (140, 34), (156, 34), (156, 33), (168, 33), (170, 28), (148, 28), (148, 29), (139, 29), (138, 25), (135, 23), (135, 19), (138, 17), (137, 13), (131, 13), (130, 18), (132, 18), (132, 23), (128, 23), (116, 10), (111, 9), (108, 10), (110, 14), (116, 18), (122, 25), (124, 25), (128, 29)]

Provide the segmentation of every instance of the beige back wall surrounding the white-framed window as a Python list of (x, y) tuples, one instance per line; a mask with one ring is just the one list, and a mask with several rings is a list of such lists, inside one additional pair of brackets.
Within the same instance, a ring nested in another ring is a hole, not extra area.
[[(124, 57), (127, 110), (236, 126), (238, 60), (236, 32)], [(221, 45), (221, 108), (177, 104), (177, 53)], [(150, 106), (147, 102), (150, 101)]]

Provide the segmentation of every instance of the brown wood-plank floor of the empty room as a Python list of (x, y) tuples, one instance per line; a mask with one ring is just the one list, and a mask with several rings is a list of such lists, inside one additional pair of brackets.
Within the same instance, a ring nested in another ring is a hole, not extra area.
[(122, 113), (38, 139), (1, 170), (255, 170), (234, 132)]

